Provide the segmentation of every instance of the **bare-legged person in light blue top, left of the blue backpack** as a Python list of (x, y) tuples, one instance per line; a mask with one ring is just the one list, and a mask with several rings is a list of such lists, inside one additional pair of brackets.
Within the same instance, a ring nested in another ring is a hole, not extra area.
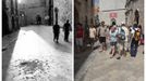
[(111, 45), (110, 58), (112, 58), (117, 53), (117, 42), (118, 42), (117, 36), (118, 36), (118, 31), (117, 31), (117, 26), (114, 25), (109, 30), (109, 40), (110, 40), (110, 45)]

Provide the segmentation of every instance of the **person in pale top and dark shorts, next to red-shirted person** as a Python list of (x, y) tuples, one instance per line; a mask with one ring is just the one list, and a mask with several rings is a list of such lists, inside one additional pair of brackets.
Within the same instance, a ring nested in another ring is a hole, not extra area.
[(89, 28), (89, 39), (90, 39), (89, 43), (90, 43), (92, 49), (94, 48), (95, 38), (96, 38), (96, 28), (92, 24), (92, 26)]

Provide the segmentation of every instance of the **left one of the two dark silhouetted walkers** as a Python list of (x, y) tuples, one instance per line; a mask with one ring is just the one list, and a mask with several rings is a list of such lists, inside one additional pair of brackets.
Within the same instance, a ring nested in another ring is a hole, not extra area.
[(59, 43), (59, 33), (60, 33), (60, 26), (56, 23), (53, 26), (53, 41)]

